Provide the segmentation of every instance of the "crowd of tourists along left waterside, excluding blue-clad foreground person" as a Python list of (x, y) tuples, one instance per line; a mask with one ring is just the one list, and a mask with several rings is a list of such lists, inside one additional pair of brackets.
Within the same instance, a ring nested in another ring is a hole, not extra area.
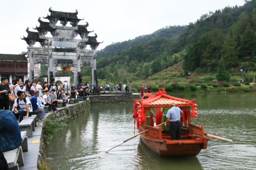
[(50, 85), (48, 82), (44, 82), (41, 85), (40, 80), (37, 82), (26, 80), (23, 83), (20, 78), (17, 78), (9, 84), (8, 78), (2, 77), (0, 109), (12, 111), (19, 121), (22, 121), (26, 116), (30, 116), (32, 112), (40, 112), (40, 119), (44, 119), (44, 106), (51, 107), (53, 112), (56, 113), (58, 102), (68, 102), (69, 99), (89, 97), (89, 95), (90, 85), (87, 82), (82, 83), (80, 88), (72, 84), (69, 96), (66, 97), (62, 82), (58, 85), (55, 82)]

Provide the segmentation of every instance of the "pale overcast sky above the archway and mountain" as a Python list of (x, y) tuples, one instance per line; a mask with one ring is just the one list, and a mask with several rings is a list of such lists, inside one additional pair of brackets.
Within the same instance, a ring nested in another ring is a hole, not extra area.
[(39, 26), (38, 17), (50, 14), (50, 6), (56, 11), (78, 10), (78, 18), (84, 18), (79, 24), (88, 21), (88, 30), (104, 41), (100, 50), (167, 25), (187, 25), (225, 6), (242, 6), (244, 0), (1, 0), (0, 4), (0, 53), (19, 54), (27, 51), (20, 39), (26, 37), (26, 27), (33, 31)]

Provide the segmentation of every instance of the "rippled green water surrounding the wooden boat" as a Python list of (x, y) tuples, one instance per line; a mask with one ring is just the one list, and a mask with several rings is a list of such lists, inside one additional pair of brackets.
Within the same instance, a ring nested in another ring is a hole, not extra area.
[[(133, 103), (92, 104), (90, 113), (70, 121), (48, 145), (54, 170), (252, 170), (256, 169), (256, 94), (171, 94), (196, 98), (198, 118), (205, 132), (232, 139), (209, 137), (208, 148), (197, 156), (161, 158), (134, 134)], [(137, 131), (136, 131), (137, 133)]]

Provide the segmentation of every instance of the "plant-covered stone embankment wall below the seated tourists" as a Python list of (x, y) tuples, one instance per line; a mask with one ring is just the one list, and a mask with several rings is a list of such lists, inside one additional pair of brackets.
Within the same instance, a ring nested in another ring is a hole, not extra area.
[(39, 156), (38, 156), (38, 165), (42, 162), (46, 161), (46, 132), (45, 126), (47, 126), (47, 121), (49, 120), (56, 120), (60, 117), (68, 117), (68, 119), (63, 119), (63, 121), (68, 121), (70, 119), (74, 119), (78, 117), (80, 114), (88, 114), (90, 108), (90, 101), (84, 101), (78, 104), (74, 104), (72, 106), (67, 106), (57, 111), (57, 114), (49, 115), (46, 120), (44, 121), (43, 130), (40, 138), (40, 149), (39, 149)]

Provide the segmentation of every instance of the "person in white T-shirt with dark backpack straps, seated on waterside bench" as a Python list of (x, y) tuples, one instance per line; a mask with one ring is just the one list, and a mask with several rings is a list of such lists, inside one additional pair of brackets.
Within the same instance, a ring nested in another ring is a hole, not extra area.
[(20, 118), (20, 122), (23, 118), (32, 115), (32, 109), (30, 107), (30, 100), (25, 98), (25, 93), (22, 91), (17, 92), (18, 98), (14, 100), (14, 111), (12, 112), (16, 118)]

